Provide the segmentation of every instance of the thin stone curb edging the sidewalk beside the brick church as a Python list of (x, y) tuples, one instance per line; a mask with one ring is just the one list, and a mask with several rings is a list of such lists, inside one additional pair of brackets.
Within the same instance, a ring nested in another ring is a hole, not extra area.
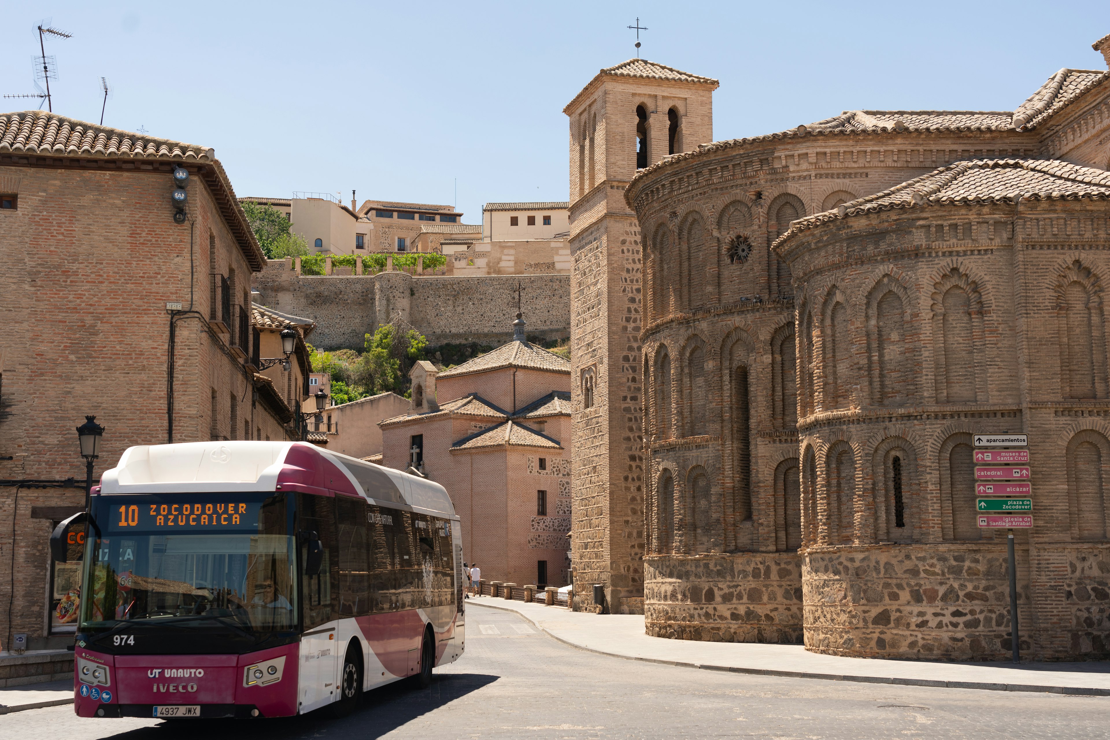
[[(473, 600), (473, 599), (471, 599)], [(930, 681), (924, 678), (890, 678), (887, 676), (841, 676), (837, 673), (809, 673), (806, 671), (795, 671), (795, 670), (773, 670), (768, 668), (737, 668), (735, 666), (710, 666), (706, 663), (689, 663), (682, 662), (678, 660), (663, 660), (660, 658), (638, 658), (636, 656), (625, 656), (619, 652), (606, 652), (605, 650), (597, 650), (595, 648), (587, 648), (575, 642), (571, 642), (557, 635), (552, 635), (546, 629), (532, 621), (526, 615), (517, 611), (516, 609), (511, 609), (508, 607), (494, 606), (492, 604), (475, 604), (472, 606), (486, 607), (490, 609), (500, 609), (501, 611), (511, 611), (517, 617), (521, 617), (533, 627), (538, 629), (541, 632), (551, 637), (563, 645), (567, 645), (572, 648), (578, 650), (585, 650), (586, 652), (594, 652), (599, 656), (608, 656), (610, 658), (622, 658), (624, 660), (639, 660), (642, 662), (648, 663), (659, 663), (663, 666), (676, 666), (678, 668), (699, 668), (702, 670), (716, 670), (726, 673), (746, 673), (748, 676), (775, 676), (778, 678), (810, 678), (818, 679), (823, 681), (854, 681), (857, 683), (888, 683), (892, 686), (924, 686), (937, 689), (978, 689), (980, 691), (1032, 691), (1038, 693), (1062, 693), (1069, 696), (1083, 696), (1083, 697), (1110, 697), (1110, 689), (1088, 689), (1082, 687), (1067, 687), (1067, 686), (1037, 686), (1032, 683), (989, 683), (985, 681)]]

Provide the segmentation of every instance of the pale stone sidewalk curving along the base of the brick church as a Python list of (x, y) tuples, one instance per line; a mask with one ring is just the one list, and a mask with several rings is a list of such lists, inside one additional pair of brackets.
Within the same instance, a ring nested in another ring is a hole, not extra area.
[[(630, 660), (833, 681), (1110, 696), (1110, 662), (1106, 661), (1015, 666), (842, 658), (809, 652), (800, 645), (697, 642), (648, 637), (644, 633), (644, 617), (636, 615), (593, 615), (490, 596), (471, 598), (467, 605), (515, 611), (561, 642)], [(470, 616), (481, 619), (478, 615)]]

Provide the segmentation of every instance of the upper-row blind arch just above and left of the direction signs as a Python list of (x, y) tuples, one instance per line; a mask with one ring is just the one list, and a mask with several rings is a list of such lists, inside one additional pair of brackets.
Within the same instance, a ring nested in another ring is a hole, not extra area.
[(937, 403), (986, 403), (987, 347), (979, 286), (959, 267), (951, 267), (932, 288)]

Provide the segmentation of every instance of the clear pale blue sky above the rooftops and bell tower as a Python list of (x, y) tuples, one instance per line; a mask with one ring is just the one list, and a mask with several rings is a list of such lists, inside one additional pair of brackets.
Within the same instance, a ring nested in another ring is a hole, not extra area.
[[(720, 80), (714, 136), (780, 131), (847, 109), (1013, 110), (1090, 44), (1110, 3), (559, 2), (14, 3), (0, 93), (33, 92), (33, 27), (72, 39), (54, 111), (212, 146), (240, 195), (351, 190), (454, 201), (567, 197), (563, 107), (635, 55)], [(3, 110), (37, 101), (0, 100)]]

